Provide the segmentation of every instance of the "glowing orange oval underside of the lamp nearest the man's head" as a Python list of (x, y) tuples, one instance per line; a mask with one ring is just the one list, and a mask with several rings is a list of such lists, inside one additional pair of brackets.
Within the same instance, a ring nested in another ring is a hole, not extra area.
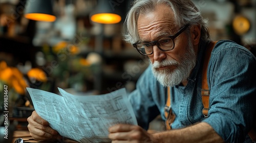
[(99, 13), (91, 17), (92, 21), (103, 24), (114, 24), (121, 21), (121, 16), (113, 13)]

